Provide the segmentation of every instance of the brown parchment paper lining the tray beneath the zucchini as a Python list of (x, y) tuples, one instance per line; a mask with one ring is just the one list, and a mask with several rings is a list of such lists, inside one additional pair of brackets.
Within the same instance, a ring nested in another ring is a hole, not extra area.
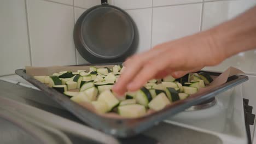
[[(114, 65), (98, 65), (95, 66), (97, 68), (112, 68)], [(89, 71), (90, 66), (68, 66), (68, 67), (63, 67), (63, 66), (52, 66), (52, 67), (26, 67), (26, 73), (30, 76), (39, 76), (39, 75), (52, 75), (53, 73), (59, 73), (60, 71), (72, 71), (76, 72), (77, 70), (86, 70)], [(209, 89), (216, 88), (223, 83), (225, 83), (228, 80), (228, 77), (236, 74), (243, 74), (243, 71), (236, 69), (234, 67), (230, 67), (226, 69), (221, 75), (218, 77), (213, 78), (213, 82), (210, 83), (210, 85), (206, 86), (205, 88), (201, 88), (198, 93), (201, 92), (206, 92)], [(74, 89), (72, 91), (78, 91), (78, 89)], [(192, 95), (193, 96), (193, 95)], [(90, 103), (79, 103), (80, 105), (84, 106), (86, 109), (96, 112), (94, 107)], [(147, 115), (150, 115), (150, 113), (154, 113), (154, 110), (149, 110), (147, 112)], [(110, 118), (118, 118), (118, 119), (123, 119), (124, 117), (119, 116), (117, 113), (110, 112), (110, 113), (105, 113), (105, 114), (100, 114), (98, 115), (104, 116), (104, 117), (110, 117)]]

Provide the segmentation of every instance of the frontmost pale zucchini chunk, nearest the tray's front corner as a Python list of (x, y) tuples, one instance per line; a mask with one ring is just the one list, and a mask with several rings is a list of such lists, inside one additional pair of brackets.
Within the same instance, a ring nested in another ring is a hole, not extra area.
[(146, 115), (146, 107), (138, 104), (118, 106), (118, 113), (127, 118), (141, 117)]

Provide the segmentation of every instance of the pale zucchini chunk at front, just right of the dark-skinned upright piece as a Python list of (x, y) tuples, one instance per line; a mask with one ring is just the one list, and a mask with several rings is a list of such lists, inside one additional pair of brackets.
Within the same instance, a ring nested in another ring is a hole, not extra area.
[(149, 108), (155, 111), (159, 111), (165, 108), (166, 105), (170, 104), (170, 101), (164, 93), (156, 95), (156, 97), (148, 104)]

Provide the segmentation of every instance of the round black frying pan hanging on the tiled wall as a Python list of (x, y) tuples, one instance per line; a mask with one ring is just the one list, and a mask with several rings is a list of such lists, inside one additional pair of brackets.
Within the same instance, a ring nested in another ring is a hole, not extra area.
[(107, 0), (101, 3), (86, 10), (75, 23), (75, 47), (90, 63), (123, 62), (137, 49), (137, 27), (124, 10)]

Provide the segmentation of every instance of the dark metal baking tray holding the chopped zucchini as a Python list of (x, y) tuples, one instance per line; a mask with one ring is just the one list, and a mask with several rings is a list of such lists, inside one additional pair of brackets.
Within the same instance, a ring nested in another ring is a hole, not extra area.
[[(93, 65), (114, 65), (111, 64), (93, 64)], [(75, 65), (75, 66), (92, 66), (90, 65)], [(205, 71), (212, 76), (219, 76), (221, 73)], [(242, 82), (248, 80), (248, 76), (245, 75), (233, 75), (228, 78), (228, 81), (223, 85), (216, 88), (212, 88), (207, 92), (193, 94), (193, 97), (189, 97), (184, 100), (179, 100), (171, 105), (165, 107), (160, 111), (154, 112), (150, 115), (140, 118), (109, 118), (97, 115), (96, 113), (86, 109), (85, 107), (74, 103), (66, 95), (57, 92), (55, 89), (48, 87), (44, 83), (41, 83), (34, 79), (32, 76), (26, 74), (25, 69), (18, 69), (15, 71), (16, 74), (21, 76), (23, 79), (32, 83), (34, 86), (41, 89), (51, 99), (65, 107), (69, 112), (72, 112), (75, 116), (81, 119), (91, 127), (103, 131), (104, 133), (116, 136), (116, 137), (130, 137), (141, 133), (142, 131), (153, 127), (165, 118), (175, 115), (190, 106), (202, 103), (205, 100), (215, 97), (217, 94), (224, 92), (232, 87), (239, 85)]]

